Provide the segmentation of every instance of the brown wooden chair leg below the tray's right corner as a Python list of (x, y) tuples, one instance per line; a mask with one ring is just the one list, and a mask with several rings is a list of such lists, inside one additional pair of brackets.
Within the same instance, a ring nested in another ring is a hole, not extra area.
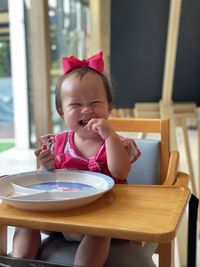
[(159, 244), (159, 267), (174, 267), (174, 240)]

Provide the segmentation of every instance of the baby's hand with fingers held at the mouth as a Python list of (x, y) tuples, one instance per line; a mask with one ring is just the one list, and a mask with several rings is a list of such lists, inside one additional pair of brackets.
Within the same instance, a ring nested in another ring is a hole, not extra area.
[(86, 129), (98, 133), (104, 140), (115, 133), (108, 121), (102, 118), (91, 119), (86, 125)]

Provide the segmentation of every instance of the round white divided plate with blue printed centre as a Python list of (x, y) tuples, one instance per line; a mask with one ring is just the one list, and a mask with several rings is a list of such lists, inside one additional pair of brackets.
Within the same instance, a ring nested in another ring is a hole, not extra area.
[(26, 210), (67, 210), (95, 201), (113, 186), (111, 177), (97, 172), (37, 170), (1, 179), (0, 199)]

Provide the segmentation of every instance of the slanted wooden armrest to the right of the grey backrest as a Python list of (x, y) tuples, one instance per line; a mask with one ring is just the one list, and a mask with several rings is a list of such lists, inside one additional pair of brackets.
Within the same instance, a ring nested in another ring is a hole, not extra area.
[(165, 179), (164, 185), (170, 186), (174, 185), (177, 180), (177, 169), (179, 162), (179, 152), (172, 151), (169, 158), (169, 167), (167, 171), (167, 177)]

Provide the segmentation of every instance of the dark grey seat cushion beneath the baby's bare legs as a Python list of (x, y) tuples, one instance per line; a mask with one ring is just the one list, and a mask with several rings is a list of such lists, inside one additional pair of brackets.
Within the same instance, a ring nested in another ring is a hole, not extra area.
[[(54, 233), (42, 244), (37, 259), (58, 264), (73, 265), (78, 241), (66, 241), (61, 233)], [(152, 260), (157, 244), (144, 247), (131, 241), (113, 239), (104, 267), (155, 267)]]

